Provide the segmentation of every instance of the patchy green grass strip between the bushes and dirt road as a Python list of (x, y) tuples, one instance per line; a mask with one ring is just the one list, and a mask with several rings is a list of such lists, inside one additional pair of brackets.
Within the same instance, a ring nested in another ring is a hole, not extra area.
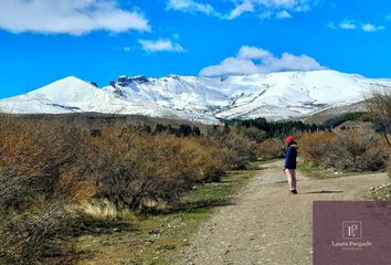
[(169, 212), (124, 212), (117, 220), (87, 222), (86, 233), (68, 241), (80, 255), (74, 264), (173, 264), (199, 225), (216, 206), (233, 203), (234, 194), (255, 173), (255, 167), (231, 171), (219, 183), (194, 187)]

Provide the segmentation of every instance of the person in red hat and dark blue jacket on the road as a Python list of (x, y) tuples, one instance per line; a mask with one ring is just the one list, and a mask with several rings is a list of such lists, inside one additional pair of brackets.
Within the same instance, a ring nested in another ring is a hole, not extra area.
[(284, 171), (288, 179), (289, 190), (293, 194), (297, 194), (296, 189), (296, 158), (297, 158), (297, 142), (292, 136), (285, 140), (285, 168)]

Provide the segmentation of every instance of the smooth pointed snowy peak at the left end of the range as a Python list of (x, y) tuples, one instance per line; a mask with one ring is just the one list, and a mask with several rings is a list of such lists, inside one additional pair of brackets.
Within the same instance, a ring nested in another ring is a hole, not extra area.
[(125, 97), (130, 89), (113, 87), (98, 88), (88, 82), (70, 76), (36, 91), (0, 100), (0, 113), (11, 114), (65, 114), (105, 113), (134, 114), (150, 117), (171, 117), (178, 119), (215, 123), (192, 110), (178, 112), (144, 97)]

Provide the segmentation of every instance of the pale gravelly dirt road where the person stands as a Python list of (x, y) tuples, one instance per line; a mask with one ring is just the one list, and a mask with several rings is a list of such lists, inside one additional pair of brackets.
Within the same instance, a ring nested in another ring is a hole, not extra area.
[(316, 200), (356, 200), (385, 173), (314, 180), (298, 173), (299, 194), (289, 194), (283, 162), (264, 166), (232, 205), (200, 227), (180, 264), (311, 264), (311, 211)]

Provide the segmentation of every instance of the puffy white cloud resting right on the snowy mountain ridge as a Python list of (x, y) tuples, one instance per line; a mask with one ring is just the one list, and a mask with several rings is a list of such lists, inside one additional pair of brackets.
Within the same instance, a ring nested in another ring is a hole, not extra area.
[(267, 50), (255, 46), (242, 46), (236, 56), (228, 57), (218, 65), (204, 67), (200, 71), (200, 75), (222, 76), (324, 68), (325, 67), (315, 59), (305, 54), (294, 55), (290, 53), (283, 53), (281, 57), (276, 57)]

